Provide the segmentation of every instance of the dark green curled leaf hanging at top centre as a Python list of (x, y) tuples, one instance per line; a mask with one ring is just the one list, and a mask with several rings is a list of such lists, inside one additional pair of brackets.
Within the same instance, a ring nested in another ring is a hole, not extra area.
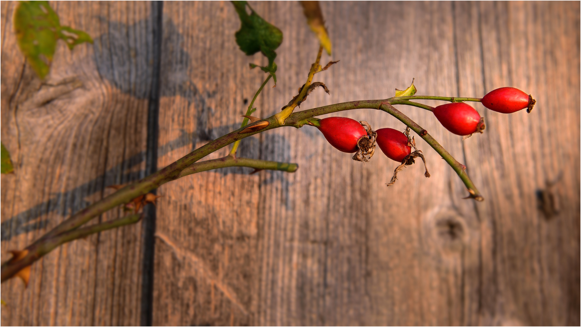
[[(282, 31), (256, 15), (256, 12), (250, 8), (246, 1), (232, 1), (232, 4), (242, 23), (240, 30), (234, 34), (236, 43), (246, 55), (262, 52), (268, 58), (267, 67), (276, 71), (276, 66), (273, 65), (274, 58), (277, 56), (275, 49), (282, 43)], [(246, 6), (250, 9), (250, 15), (246, 12)]]

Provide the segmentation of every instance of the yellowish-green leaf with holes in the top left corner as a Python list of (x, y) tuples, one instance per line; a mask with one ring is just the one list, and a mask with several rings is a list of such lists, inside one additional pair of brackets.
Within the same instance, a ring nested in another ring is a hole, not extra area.
[(49, 72), (59, 38), (69, 49), (93, 42), (84, 31), (60, 26), (59, 16), (48, 1), (21, 1), (14, 14), (14, 28), (20, 51), (41, 79)]

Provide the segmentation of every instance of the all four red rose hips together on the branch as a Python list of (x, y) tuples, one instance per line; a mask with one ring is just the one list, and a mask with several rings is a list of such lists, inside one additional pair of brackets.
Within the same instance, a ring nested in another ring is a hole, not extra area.
[[(480, 101), (486, 108), (501, 113), (512, 113), (525, 108), (528, 108), (527, 112), (530, 112), (535, 104), (535, 100), (530, 95), (514, 87), (497, 88), (486, 94)], [(480, 117), (472, 106), (464, 102), (439, 105), (433, 108), (432, 112), (447, 130), (457, 135), (470, 136), (473, 133), (482, 133), (486, 127), (484, 118)], [(361, 152), (363, 148), (363, 157), (357, 154), (353, 157), (358, 161), (367, 161), (365, 154), (370, 155), (371, 158), (375, 143), (379, 145), (383, 154), (394, 161), (401, 162), (402, 165), (409, 161), (410, 155), (413, 155), (411, 148), (415, 148), (415, 141), (410, 138), (407, 130), (405, 134), (390, 128), (372, 131), (367, 122), (357, 122), (346, 117), (324, 118), (319, 121), (319, 124), (318, 129), (337, 150), (354, 153)], [(362, 144), (368, 143), (374, 143), (373, 148), (362, 147)], [(429, 176), (427, 170), (426, 176)]]

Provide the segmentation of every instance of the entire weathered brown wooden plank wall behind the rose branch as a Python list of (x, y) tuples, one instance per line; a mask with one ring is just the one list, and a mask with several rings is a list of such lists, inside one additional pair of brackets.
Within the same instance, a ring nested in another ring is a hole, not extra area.
[[(296, 94), (318, 45), (299, 3), (250, 3), (284, 33), (277, 87), (256, 102), (264, 117)], [(60, 42), (42, 84), (16, 46), (16, 3), (1, 6), (1, 135), (16, 163), (2, 175), (2, 261), (106, 186), (144, 177), (154, 31), (159, 168), (237, 128), (264, 78), (248, 68), (264, 58), (235, 43), (229, 2), (164, 2), (161, 26), (150, 2), (51, 2), (95, 43)], [(388, 98), (414, 77), (418, 94), (513, 86), (537, 99), (530, 114), (472, 104), (487, 129), (465, 141), (401, 107), (465, 163), (484, 202), (462, 200), (460, 179), (421, 140), (432, 177), (414, 165), (388, 188), (397, 163), (381, 152), (355, 162), (313, 127), (267, 131), (239, 155), (296, 162), (296, 173), (220, 169), (157, 190), (151, 312), (138, 223), (59, 247), (26, 289), (3, 283), (2, 325), (579, 325), (579, 2), (321, 8), (333, 42), (322, 61), (340, 62), (316, 76), (331, 96), (317, 90), (302, 109)], [(371, 109), (339, 115), (404, 128)]]

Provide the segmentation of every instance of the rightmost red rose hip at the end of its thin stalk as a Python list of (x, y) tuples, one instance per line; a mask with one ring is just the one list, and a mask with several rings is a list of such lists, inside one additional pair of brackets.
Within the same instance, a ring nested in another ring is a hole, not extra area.
[[(514, 87), (501, 87), (490, 91), (482, 98), (482, 104), (493, 111), (501, 113), (513, 113), (529, 106), (529, 102), (535, 101), (530, 95)], [(530, 109), (532, 109), (530, 105)]]

